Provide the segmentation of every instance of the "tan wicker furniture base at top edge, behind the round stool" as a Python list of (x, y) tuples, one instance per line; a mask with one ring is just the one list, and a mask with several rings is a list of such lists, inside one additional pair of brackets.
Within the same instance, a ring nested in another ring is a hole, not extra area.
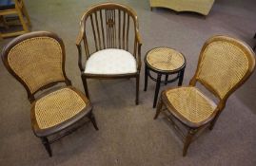
[(208, 15), (214, 0), (150, 0), (150, 8), (162, 7), (175, 11), (192, 11)]

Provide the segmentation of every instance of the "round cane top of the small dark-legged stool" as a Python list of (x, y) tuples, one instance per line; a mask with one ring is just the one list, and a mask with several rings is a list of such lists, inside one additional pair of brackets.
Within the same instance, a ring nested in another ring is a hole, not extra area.
[(185, 57), (168, 47), (156, 47), (148, 51), (146, 63), (157, 70), (173, 71), (185, 65)]

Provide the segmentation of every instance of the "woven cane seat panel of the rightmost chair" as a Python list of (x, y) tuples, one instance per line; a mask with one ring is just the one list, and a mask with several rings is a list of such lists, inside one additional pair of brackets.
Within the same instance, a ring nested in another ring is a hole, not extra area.
[(216, 108), (216, 104), (196, 87), (170, 89), (166, 95), (174, 109), (191, 122), (207, 120)]

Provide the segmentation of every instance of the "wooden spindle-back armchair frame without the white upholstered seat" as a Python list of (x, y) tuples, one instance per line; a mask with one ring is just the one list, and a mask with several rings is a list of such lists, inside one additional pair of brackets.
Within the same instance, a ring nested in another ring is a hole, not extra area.
[[(115, 10), (118, 10), (119, 14), (119, 33), (117, 34), (116, 30), (116, 24), (115, 24)], [(103, 20), (103, 10), (105, 10), (106, 13), (106, 25), (104, 25)], [(100, 21), (98, 22), (97, 14), (100, 14)], [(121, 34), (121, 12), (123, 13), (124, 22), (122, 25), (123, 33)], [(93, 19), (94, 17), (94, 19)], [(106, 75), (106, 74), (87, 74), (84, 73), (85, 66), (83, 65), (83, 56), (82, 56), (82, 46), (81, 42), (84, 42), (85, 46), (85, 54), (86, 54), (86, 60), (89, 59), (89, 56), (91, 53), (89, 52), (89, 39), (88, 35), (86, 33), (87, 31), (87, 20), (90, 19), (91, 27), (92, 27), (92, 33), (94, 37), (94, 44), (96, 51), (105, 49), (105, 48), (119, 48), (119, 49), (126, 49), (128, 50), (128, 30), (129, 30), (129, 18), (133, 20), (134, 23), (134, 49), (133, 49), (133, 56), (136, 58), (137, 61), (137, 72), (131, 73), (131, 74), (114, 74), (114, 75)], [(126, 22), (126, 18), (128, 18), (128, 22)], [(108, 22), (108, 21), (111, 21)], [(126, 24), (128, 24), (126, 26)], [(104, 26), (106, 26), (106, 30), (104, 30)], [(84, 84), (85, 92), (87, 97), (89, 98), (89, 90), (88, 90), (88, 83), (87, 79), (122, 79), (122, 78), (135, 78), (136, 79), (136, 104), (139, 103), (139, 82), (140, 82), (140, 70), (141, 70), (141, 37), (139, 34), (139, 25), (137, 21), (137, 14), (133, 9), (129, 9), (128, 7), (121, 5), (121, 4), (115, 4), (115, 3), (104, 3), (95, 5), (89, 9), (86, 10), (86, 12), (83, 14), (82, 19), (80, 21), (80, 32), (76, 40), (76, 46), (78, 48), (78, 55), (79, 55), (79, 61), (78, 65), (81, 71), (81, 78)], [(101, 30), (100, 30), (101, 29)], [(125, 32), (127, 31), (127, 33)], [(118, 40), (117, 40), (118, 38)], [(117, 43), (119, 42), (119, 46)], [(122, 43), (122, 44), (121, 44)]]

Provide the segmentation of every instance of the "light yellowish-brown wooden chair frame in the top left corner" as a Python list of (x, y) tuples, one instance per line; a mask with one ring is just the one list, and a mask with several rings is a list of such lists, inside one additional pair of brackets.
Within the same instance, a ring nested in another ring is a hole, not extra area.
[[(1, 38), (18, 36), (18, 35), (21, 35), (21, 34), (24, 34), (24, 33), (27, 33), (30, 31), (30, 29), (29, 29), (29, 27), (31, 26), (30, 15), (25, 7), (24, 1), (23, 0), (14, 0), (14, 2), (15, 2), (15, 8), (0, 10), (0, 17), (2, 17), (4, 24), (7, 26), (8, 23), (3, 18), (4, 15), (17, 14), (23, 30), (15, 31), (15, 32), (0, 33)], [(27, 18), (28, 23), (26, 23), (24, 16)]]

